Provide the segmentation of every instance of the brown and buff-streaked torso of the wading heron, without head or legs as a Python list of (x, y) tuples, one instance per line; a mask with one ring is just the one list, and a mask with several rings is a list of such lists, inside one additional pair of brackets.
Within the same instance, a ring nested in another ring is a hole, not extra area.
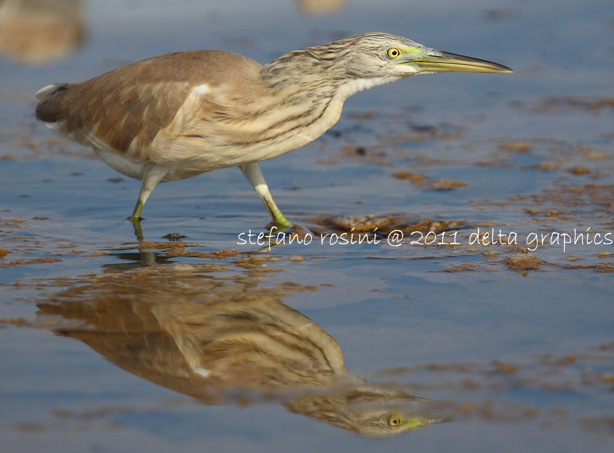
[(277, 157), (328, 130), (346, 96), (301, 71), (272, 73), (223, 50), (168, 53), (42, 88), (36, 115), (127, 176), (156, 164), (168, 168), (162, 181), (183, 179)]

